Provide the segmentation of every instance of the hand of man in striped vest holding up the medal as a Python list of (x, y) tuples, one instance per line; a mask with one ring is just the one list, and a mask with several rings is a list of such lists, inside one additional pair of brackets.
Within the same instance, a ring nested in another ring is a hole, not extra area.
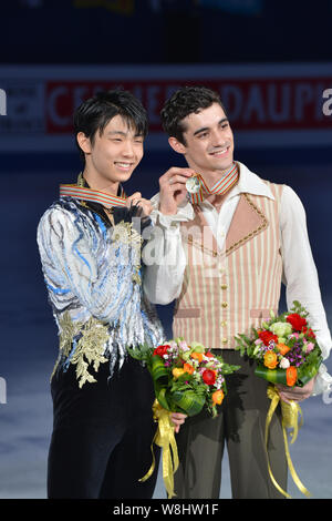
[(177, 207), (187, 196), (186, 181), (195, 175), (193, 168), (173, 166), (159, 178), (159, 211), (164, 215), (175, 215)]

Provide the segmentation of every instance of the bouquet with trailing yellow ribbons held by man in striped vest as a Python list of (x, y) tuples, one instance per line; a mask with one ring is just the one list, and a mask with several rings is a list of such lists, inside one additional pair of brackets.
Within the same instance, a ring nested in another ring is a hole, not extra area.
[[(247, 355), (257, 361), (255, 374), (266, 380), (274, 384), (269, 386), (268, 397), (271, 399), (271, 406), (266, 422), (266, 447), (268, 449), (269, 425), (273, 412), (281, 401), (283, 440), (286, 446), (286, 456), (290, 472), (298, 488), (305, 496), (310, 496), (298, 478), (290, 459), (286, 429), (291, 428), (293, 443), (298, 436), (298, 417), (302, 416), (300, 406), (294, 402), (280, 400), (276, 384), (293, 387), (303, 387), (318, 372), (322, 361), (321, 349), (317, 343), (314, 331), (308, 323), (308, 311), (297, 300), (293, 302), (292, 313), (283, 313), (276, 316), (270, 311), (270, 320), (262, 321), (260, 328), (252, 328), (252, 336), (236, 336), (238, 343), (236, 349), (240, 354)], [(300, 427), (302, 421), (300, 423)], [(270, 464), (269, 474), (277, 489), (287, 498), (290, 496), (279, 487), (273, 478)]]

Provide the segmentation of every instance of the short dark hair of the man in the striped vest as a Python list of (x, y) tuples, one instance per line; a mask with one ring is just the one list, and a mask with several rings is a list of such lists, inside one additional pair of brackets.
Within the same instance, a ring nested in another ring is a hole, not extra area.
[(197, 114), (201, 110), (208, 109), (214, 103), (218, 103), (226, 114), (217, 92), (206, 86), (183, 86), (165, 102), (160, 112), (164, 131), (186, 145), (184, 139), (186, 127), (183, 120), (189, 114)]

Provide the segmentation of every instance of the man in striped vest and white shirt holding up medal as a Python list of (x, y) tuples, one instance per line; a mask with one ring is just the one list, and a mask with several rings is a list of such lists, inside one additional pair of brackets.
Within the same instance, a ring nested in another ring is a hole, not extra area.
[[(297, 299), (307, 307), (323, 357), (329, 356), (331, 336), (304, 210), (289, 186), (263, 181), (234, 161), (234, 135), (217, 93), (180, 89), (166, 102), (162, 121), (170, 146), (188, 167), (168, 170), (153, 198), (158, 233), (144, 252), (149, 264), (145, 292), (153, 303), (176, 299), (174, 337), (222, 349), (226, 362), (241, 366), (227, 380), (218, 418), (188, 418), (177, 435), (175, 492), (178, 498), (219, 498), (227, 442), (234, 498), (280, 498), (269, 478), (264, 447), (267, 382), (255, 376), (252, 362), (240, 358), (234, 336), (249, 334), (270, 309), (278, 310), (283, 280), (288, 305)], [(193, 180), (187, 181), (197, 173), (198, 192), (188, 194)], [(281, 389), (280, 395), (300, 401), (331, 382), (322, 365), (307, 386)], [(271, 469), (286, 490), (280, 411), (270, 435)]]

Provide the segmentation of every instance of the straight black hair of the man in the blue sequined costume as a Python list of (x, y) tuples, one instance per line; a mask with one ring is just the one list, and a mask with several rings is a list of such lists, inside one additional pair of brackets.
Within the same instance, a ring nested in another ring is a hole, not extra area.
[[(105, 126), (116, 115), (121, 115), (129, 127), (134, 127), (137, 135), (147, 135), (147, 114), (142, 103), (128, 91), (121, 89), (102, 91), (84, 101), (74, 112), (73, 123), (75, 139), (83, 132), (94, 143), (96, 132), (102, 135)], [(85, 155), (80, 147), (80, 155)]]

